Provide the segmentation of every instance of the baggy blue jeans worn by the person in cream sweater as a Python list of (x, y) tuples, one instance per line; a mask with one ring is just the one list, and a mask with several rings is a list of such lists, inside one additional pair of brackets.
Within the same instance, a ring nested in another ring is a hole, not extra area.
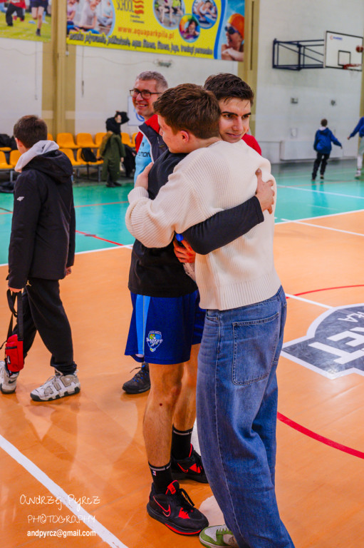
[(293, 548), (276, 502), (276, 367), (283, 288), (268, 300), (207, 310), (199, 350), (197, 427), (209, 484), (239, 548)]

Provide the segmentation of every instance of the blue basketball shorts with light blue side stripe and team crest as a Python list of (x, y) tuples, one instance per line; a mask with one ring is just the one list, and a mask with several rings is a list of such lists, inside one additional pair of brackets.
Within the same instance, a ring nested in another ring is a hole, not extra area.
[(132, 319), (125, 355), (162, 365), (188, 362), (191, 346), (201, 342), (204, 329), (198, 291), (171, 298), (130, 295)]

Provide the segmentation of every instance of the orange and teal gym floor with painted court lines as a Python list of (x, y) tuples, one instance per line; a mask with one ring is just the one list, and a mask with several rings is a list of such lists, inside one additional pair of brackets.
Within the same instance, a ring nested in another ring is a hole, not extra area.
[[(288, 295), (278, 372), (281, 517), (297, 548), (363, 547), (364, 181), (353, 178), (353, 161), (330, 163), (326, 180), (316, 185), (308, 164), (272, 171), (279, 184), (276, 268)], [(80, 253), (61, 293), (80, 394), (31, 401), (29, 392), (52, 374), (38, 336), (16, 393), (0, 394), (3, 548), (200, 545), (145, 510), (151, 480), (142, 440), (147, 394), (121, 389), (137, 365), (123, 355), (131, 310), (132, 238), (123, 224), (129, 190), (75, 188)], [(11, 208), (12, 196), (0, 195), (2, 339), (9, 322)], [(183, 487), (211, 524), (221, 522), (209, 486)], [(55, 536), (40, 538), (48, 532)]]

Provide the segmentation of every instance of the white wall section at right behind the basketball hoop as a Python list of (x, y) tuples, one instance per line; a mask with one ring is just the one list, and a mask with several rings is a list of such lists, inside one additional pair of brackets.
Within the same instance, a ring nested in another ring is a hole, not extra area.
[[(362, 73), (335, 68), (286, 71), (272, 68), (274, 39), (323, 39), (325, 31), (364, 34), (363, 0), (260, 0), (256, 138), (263, 156), (278, 163), (314, 158), (313, 138), (322, 118), (343, 143), (332, 157), (356, 156), (347, 140), (358, 122)], [(291, 103), (297, 98), (298, 103)], [(331, 105), (335, 101), (335, 105)]]

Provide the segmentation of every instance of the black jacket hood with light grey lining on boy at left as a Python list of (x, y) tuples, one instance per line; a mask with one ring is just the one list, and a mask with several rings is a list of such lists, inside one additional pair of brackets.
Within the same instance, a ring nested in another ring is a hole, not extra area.
[[(49, 144), (44, 146), (44, 143)], [(34, 154), (36, 151), (33, 151), (33, 148), (37, 145), (40, 147), (36, 149), (38, 153)], [(34, 147), (21, 155), (16, 164), (16, 171), (36, 169), (51, 177), (58, 184), (68, 182), (73, 174), (73, 167), (67, 156), (58, 150), (58, 145), (53, 141), (38, 141)], [(33, 153), (28, 155), (31, 151)], [(24, 158), (26, 155), (28, 157)]]

